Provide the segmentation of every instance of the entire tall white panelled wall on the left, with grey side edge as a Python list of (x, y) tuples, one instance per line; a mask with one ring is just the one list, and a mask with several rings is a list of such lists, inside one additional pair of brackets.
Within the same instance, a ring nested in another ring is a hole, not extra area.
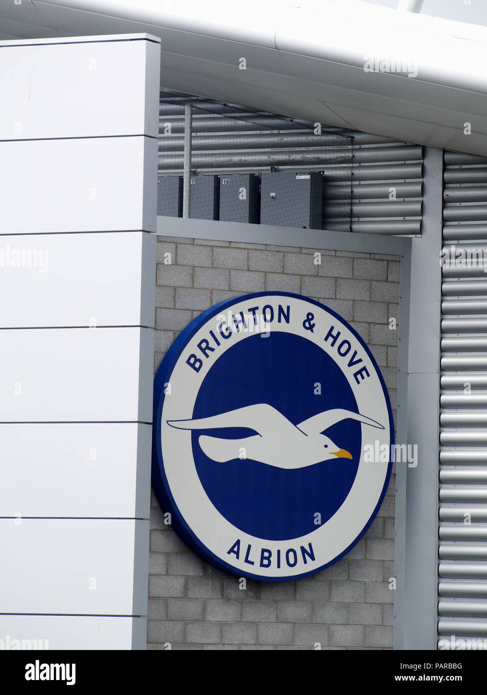
[(145, 648), (159, 72), (147, 34), (0, 42), (4, 645)]

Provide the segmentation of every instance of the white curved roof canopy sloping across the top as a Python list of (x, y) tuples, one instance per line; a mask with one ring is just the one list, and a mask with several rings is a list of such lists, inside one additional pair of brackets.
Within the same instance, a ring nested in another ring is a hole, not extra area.
[(0, 0), (2, 39), (132, 32), (162, 38), (165, 88), (487, 156), (483, 26), (356, 0)]

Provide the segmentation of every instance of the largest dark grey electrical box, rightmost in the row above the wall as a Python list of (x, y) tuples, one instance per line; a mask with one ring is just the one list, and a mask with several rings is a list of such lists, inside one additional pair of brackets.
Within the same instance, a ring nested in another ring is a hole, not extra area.
[(261, 224), (322, 227), (323, 176), (320, 172), (261, 175)]

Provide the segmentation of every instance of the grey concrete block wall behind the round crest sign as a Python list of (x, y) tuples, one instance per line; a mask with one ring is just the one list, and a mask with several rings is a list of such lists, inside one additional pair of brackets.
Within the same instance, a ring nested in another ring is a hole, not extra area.
[[(251, 291), (301, 293), (340, 313), (368, 343), (395, 418), (398, 256), (159, 236), (157, 259), (154, 372), (209, 306)], [(377, 518), (336, 564), (311, 578), (247, 580), (240, 589), (165, 525), (153, 491), (147, 648), (392, 648), (394, 493), (392, 475)]]

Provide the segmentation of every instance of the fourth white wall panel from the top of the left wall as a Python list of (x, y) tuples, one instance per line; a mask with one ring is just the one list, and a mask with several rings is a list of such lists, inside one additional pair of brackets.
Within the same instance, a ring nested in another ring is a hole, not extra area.
[(0, 422), (152, 421), (154, 331), (3, 330)]

